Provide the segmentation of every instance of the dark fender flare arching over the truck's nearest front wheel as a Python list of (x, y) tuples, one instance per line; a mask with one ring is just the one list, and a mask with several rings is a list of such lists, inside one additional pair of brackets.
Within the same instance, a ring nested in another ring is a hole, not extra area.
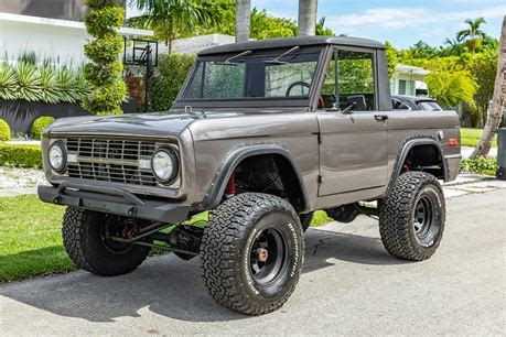
[(287, 149), (279, 144), (272, 143), (247, 144), (232, 150), (222, 162), (219, 170), (216, 172), (211, 184), (211, 189), (207, 192), (204, 200), (200, 204), (200, 208), (211, 209), (218, 206), (222, 202), (222, 196), (225, 193), (228, 180), (230, 178), (232, 173), (236, 170), (237, 165), (239, 165), (239, 163), (247, 157), (260, 154), (278, 154), (283, 156), (290, 163), (293, 171), (295, 172), (297, 180), (302, 193), (302, 210), (305, 210), (308, 208), (309, 200), (299, 167), (294, 164), (295, 162)]

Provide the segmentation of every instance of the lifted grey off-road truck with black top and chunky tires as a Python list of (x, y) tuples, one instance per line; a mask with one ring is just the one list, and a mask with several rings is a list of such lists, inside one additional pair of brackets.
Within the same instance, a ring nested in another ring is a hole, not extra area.
[(205, 50), (170, 111), (61, 119), (42, 146), (39, 196), (67, 206), (78, 268), (125, 274), (160, 246), (200, 256), (211, 296), (250, 315), (293, 292), (316, 209), (377, 215), (389, 253), (430, 258), (439, 180), (461, 161), (455, 112), (392, 110), (384, 45), (327, 36)]

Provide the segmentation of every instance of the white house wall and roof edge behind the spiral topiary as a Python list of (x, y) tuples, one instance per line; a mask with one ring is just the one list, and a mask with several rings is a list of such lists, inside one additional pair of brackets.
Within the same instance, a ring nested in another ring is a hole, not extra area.
[[(119, 32), (128, 37), (153, 36), (152, 31), (130, 28)], [(0, 61), (15, 62), (20, 54), (34, 52), (41, 61), (80, 65), (89, 39), (82, 21), (4, 12), (0, 6)]]

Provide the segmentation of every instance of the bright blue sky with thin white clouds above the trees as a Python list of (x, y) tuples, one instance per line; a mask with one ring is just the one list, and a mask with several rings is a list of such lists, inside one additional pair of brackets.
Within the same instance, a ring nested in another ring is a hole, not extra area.
[[(298, 0), (251, 0), (274, 17), (297, 19)], [(128, 13), (131, 15), (130, 13)], [(464, 20), (483, 17), (482, 30), (498, 39), (506, 0), (319, 0), (319, 19), (334, 34), (389, 41), (407, 48), (422, 40), (432, 46), (444, 44), (465, 28)]]

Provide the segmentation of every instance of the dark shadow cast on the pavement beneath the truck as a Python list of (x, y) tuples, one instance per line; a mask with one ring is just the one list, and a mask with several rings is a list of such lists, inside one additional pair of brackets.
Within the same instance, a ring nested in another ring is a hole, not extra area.
[[(406, 263), (390, 257), (378, 238), (310, 229), (305, 240), (303, 273), (333, 265), (338, 262), (334, 259), (376, 265)], [(184, 262), (173, 254), (151, 258), (128, 275), (99, 278), (79, 271), (11, 283), (0, 287), (0, 295), (90, 322), (138, 317), (146, 307), (162, 316), (192, 322), (247, 318), (223, 308), (207, 295), (198, 258)]]

